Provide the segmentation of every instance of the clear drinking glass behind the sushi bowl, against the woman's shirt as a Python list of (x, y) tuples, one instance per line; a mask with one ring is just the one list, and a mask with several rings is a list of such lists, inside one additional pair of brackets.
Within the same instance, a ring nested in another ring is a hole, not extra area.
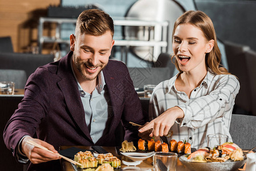
[(207, 136), (207, 146), (213, 149), (215, 146), (222, 145), (229, 140), (229, 136), (224, 134), (212, 134)]

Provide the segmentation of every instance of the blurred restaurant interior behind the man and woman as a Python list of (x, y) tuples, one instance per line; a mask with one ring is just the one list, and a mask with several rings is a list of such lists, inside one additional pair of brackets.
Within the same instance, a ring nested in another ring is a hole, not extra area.
[[(170, 60), (172, 29), (188, 10), (212, 19), (222, 53), (221, 64), (239, 79), (230, 134), (245, 149), (256, 139), (256, 1), (243, 0), (12, 0), (0, 2), (0, 82), (15, 82), (14, 95), (0, 95), (3, 132), (23, 98), (23, 89), (37, 67), (54, 62), (70, 50), (75, 21), (86, 9), (108, 13), (115, 25), (110, 59), (124, 62), (138, 90), (145, 113), (146, 84), (157, 85), (177, 74)], [(246, 140), (246, 142), (245, 142)], [(0, 170), (23, 170), (3, 139)]]

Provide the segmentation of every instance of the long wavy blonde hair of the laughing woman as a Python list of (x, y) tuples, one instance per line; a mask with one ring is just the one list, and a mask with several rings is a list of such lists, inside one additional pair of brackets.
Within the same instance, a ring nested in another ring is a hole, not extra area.
[[(182, 14), (174, 23), (173, 32), (172, 32), (172, 38), (174, 35), (174, 32), (176, 31), (176, 28), (178, 25), (182, 25), (185, 23), (189, 23), (197, 28), (200, 28), (200, 30), (203, 32), (205, 38), (209, 40), (214, 40), (214, 47), (212, 51), (206, 54), (205, 56), (205, 64), (206, 67), (210, 68), (214, 74), (220, 75), (220, 74), (230, 74), (225, 67), (221, 66), (221, 52), (218, 48), (217, 44), (217, 38), (216, 33), (213, 27), (213, 22), (210, 19), (208, 15), (206, 15), (202, 11), (186, 11), (186, 13)], [(175, 64), (178, 71), (182, 72), (180, 68), (178, 67), (178, 62), (176, 58), (174, 58), (175, 55), (171, 55), (172, 62)]]

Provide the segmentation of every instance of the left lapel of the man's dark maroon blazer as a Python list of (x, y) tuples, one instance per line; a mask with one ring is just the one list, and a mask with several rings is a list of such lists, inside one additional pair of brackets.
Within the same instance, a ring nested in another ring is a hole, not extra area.
[(84, 108), (80, 99), (78, 85), (71, 69), (71, 58), (72, 52), (64, 56), (59, 63), (58, 75), (62, 79), (58, 82), (58, 86), (63, 92), (68, 110), (70, 111), (71, 117), (73, 117), (77, 124), (77, 127), (79, 127), (84, 135), (86, 135), (92, 142), (90, 132), (86, 125)]

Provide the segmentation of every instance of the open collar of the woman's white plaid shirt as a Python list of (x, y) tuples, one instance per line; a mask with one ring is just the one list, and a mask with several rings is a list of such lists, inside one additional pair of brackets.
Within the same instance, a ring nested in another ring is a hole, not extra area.
[[(170, 90), (171, 90), (172, 88), (174, 88), (175, 81), (176, 81), (178, 75), (180, 75), (180, 74), (181, 74), (181, 73), (179, 72), (178, 74), (176, 74), (176, 75), (174, 76), (174, 77), (175, 77), (174, 79), (170, 79), (170, 80), (169, 80), (169, 82), (168, 82), (168, 92), (170, 92)], [(202, 80), (201, 86), (205, 86), (205, 88), (208, 88), (208, 86), (209, 86), (210, 83), (212, 82), (212, 80), (213, 80), (213, 78), (214, 78), (215, 75), (216, 75), (216, 74), (214, 74), (214, 73), (212, 72), (212, 70), (210, 70), (210, 68), (208, 68), (208, 71), (207, 71), (207, 73), (206, 73), (206, 76), (205, 76), (204, 80)]]

